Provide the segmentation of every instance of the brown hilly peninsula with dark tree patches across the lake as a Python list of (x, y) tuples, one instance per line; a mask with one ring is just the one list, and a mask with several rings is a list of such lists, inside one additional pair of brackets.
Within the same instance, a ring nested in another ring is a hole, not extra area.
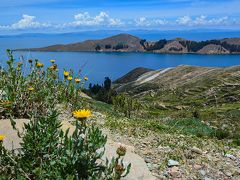
[(68, 52), (154, 52), (169, 54), (240, 54), (240, 38), (192, 41), (183, 38), (147, 41), (130, 34), (118, 34), (100, 40), (86, 40), (72, 44), (57, 44), (41, 48), (16, 51), (68, 51)]

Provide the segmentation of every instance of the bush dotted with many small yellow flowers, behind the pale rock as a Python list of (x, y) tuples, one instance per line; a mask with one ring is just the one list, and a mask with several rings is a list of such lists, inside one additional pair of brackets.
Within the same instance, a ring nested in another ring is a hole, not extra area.
[(73, 71), (65, 70), (62, 81), (55, 61), (44, 69), (39, 60), (30, 59), (29, 69), (23, 69), (23, 62), (16, 63), (12, 52), (7, 52), (7, 67), (0, 71), (0, 115), (18, 118), (46, 115), (55, 104), (70, 103), (74, 107), (81, 101), (83, 83), (77, 81), (79, 77), (73, 80)]

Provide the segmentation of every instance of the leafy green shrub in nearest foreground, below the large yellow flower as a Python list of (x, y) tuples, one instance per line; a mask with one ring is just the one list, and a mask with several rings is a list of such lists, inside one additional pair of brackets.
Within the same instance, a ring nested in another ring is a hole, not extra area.
[[(7, 151), (0, 142), (0, 174), (11, 179), (120, 179), (129, 173), (123, 164), (126, 149), (117, 158), (102, 161), (107, 138), (95, 126), (76, 122), (72, 134), (63, 132), (57, 113), (24, 125), (21, 149)], [(13, 127), (14, 122), (12, 121)], [(20, 133), (19, 137), (20, 136)], [(120, 153), (121, 152), (121, 153)], [(1, 176), (0, 176), (1, 178)]]

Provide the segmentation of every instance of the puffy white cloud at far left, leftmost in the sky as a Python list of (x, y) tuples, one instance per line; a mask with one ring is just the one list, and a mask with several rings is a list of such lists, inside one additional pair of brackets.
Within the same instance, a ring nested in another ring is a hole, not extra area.
[(20, 19), (18, 22), (13, 23), (11, 25), (0, 26), (0, 28), (5, 30), (22, 30), (22, 29), (44, 28), (44, 27), (51, 26), (49, 23), (40, 23), (38, 21), (35, 21), (35, 19), (36, 19), (35, 16), (24, 14), (22, 15), (22, 19)]

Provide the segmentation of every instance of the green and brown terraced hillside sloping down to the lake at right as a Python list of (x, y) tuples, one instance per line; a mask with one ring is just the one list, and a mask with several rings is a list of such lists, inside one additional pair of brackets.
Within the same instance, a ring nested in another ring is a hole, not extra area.
[(160, 69), (144, 73), (132, 82), (114, 84), (114, 88), (139, 99), (147, 114), (176, 118), (197, 114), (207, 122), (215, 121), (217, 126), (239, 127), (240, 66)]

